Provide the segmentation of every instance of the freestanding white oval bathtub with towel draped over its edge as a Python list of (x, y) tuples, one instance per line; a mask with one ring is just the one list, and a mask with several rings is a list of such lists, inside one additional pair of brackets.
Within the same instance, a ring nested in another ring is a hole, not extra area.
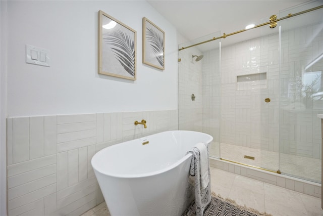
[(192, 154), (186, 153), (212, 140), (199, 132), (168, 131), (97, 152), (91, 163), (111, 215), (181, 215), (194, 198), (188, 182)]

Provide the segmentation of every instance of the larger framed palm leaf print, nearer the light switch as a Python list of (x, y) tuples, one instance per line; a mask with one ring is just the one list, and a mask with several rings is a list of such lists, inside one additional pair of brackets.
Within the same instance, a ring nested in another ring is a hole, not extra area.
[(136, 80), (137, 32), (103, 11), (98, 16), (98, 73)]

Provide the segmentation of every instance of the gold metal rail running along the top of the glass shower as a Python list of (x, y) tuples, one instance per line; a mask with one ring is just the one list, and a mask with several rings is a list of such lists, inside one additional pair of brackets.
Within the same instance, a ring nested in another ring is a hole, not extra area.
[[(277, 22), (278, 22), (278, 21), (281, 21), (281, 20), (284, 20), (284, 19), (287, 19), (287, 18), (290, 18), (290, 17), (295, 17), (295, 16), (298, 16), (298, 15), (301, 15), (301, 14), (305, 14), (305, 13), (307, 13), (307, 12), (315, 11), (315, 10), (317, 10), (317, 9), (321, 9), (321, 8), (323, 8), (323, 5), (321, 5), (321, 6), (317, 6), (317, 7), (315, 7), (315, 8), (308, 9), (308, 10), (305, 10), (305, 11), (301, 11), (301, 12), (298, 12), (298, 13), (295, 13), (295, 14), (288, 14), (286, 17), (282, 17), (282, 18), (280, 18), (280, 19), (275, 19), (275, 20), (273, 20), (273, 21), (265, 22), (265, 23), (262, 23), (262, 24), (256, 25), (256, 26), (254, 26), (253, 28), (258, 28), (258, 27), (261, 27), (261, 26), (264, 26), (264, 25), (272, 25), (272, 26), (274, 26), (274, 25), (275, 25), (274, 23), (276, 23), (276, 25), (277, 25)], [(274, 15), (273, 15), (273, 16), (274, 16)], [(273, 19), (273, 18), (272, 18), (273, 16), (271, 16), (271, 18), (270, 18), (270, 19)], [(276, 25), (275, 25), (274, 27), (276, 27)], [(271, 28), (274, 28), (274, 27), (271, 27)], [(221, 38), (226, 38), (226, 37), (228, 37), (228, 36), (231, 36), (231, 35), (234, 35), (234, 34), (238, 34), (238, 33), (244, 32), (244, 31), (248, 31), (248, 30), (253, 29), (253, 28), (249, 28), (249, 29), (242, 29), (242, 30), (240, 30), (240, 31), (236, 31), (236, 32), (233, 32), (233, 33), (230, 33), (230, 34), (226, 34), (226, 33), (224, 33), (224, 34), (223, 34), (222, 36), (220, 36), (220, 37), (213, 37), (212, 39), (205, 40), (205, 41), (199, 42), (199, 43), (197, 43), (197, 44), (193, 44), (193, 45), (190, 45), (190, 46), (187, 46), (187, 47), (182, 47), (182, 48), (178, 49), (178, 51), (181, 51), (181, 50), (184, 50), (184, 49), (187, 49), (187, 48), (191, 48), (191, 47), (195, 47), (195, 46), (198, 46), (198, 45), (201, 45), (201, 44), (205, 44), (205, 43), (207, 43), (207, 42), (211, 42), (211, 41), (213, 41), (213, 40), (217, 40), (217, 39), (221, 39)]]

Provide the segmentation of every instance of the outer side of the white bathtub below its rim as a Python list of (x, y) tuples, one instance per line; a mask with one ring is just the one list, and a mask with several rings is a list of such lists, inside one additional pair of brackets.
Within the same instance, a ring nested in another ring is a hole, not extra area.
[[(185, 166), (186, 165), (186, 166)], [(188, 182), (174, 176), (189, 175), (188, 164), (182, 163), (168, 174), (132, 179), (102, 176), (95, 172), (111, 215), (181, 215), (193, 201), (194, 190)], [(174, 180), (176, 182), (174, 182)], [(186, 180), (186, 179), (183, 179)], [(109, 182), (110, 184), (104, 184)], [(143, 185), (144, 182), (147, 184)], [(158, 185), (149, 184), (158, 183)], [(166, 184), (172, 182), (173, 184)], [(116, 194), (112, 196), (112, 194)]]

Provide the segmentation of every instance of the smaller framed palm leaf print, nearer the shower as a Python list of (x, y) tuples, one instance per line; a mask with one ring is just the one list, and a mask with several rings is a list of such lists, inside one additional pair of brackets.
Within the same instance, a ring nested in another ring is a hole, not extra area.
[(142, 63), (165, 69), (165, 32), (142, 18)]

